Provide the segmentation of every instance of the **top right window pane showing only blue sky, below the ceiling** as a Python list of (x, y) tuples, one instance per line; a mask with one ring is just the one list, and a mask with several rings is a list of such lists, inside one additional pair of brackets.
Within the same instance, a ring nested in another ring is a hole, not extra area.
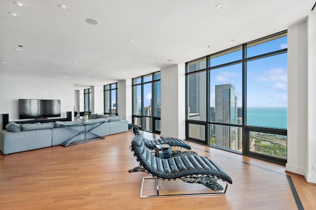
[(247, 58), (287, 48), (287, 34), (247, 45)]

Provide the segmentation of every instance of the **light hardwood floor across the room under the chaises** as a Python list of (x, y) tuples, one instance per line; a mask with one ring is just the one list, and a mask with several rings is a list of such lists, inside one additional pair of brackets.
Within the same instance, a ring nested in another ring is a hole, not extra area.
[[(286, 173), (284, 166), (192, 142), (193, 151), (216, 161), (232, 177), (226, 195), (140, 199), (141, 180), (148, 174), (128, 173), (138, 166), (128, 148), (133, 136), (128, 131), (66, 148), (1, 154), (0, 209), (296, 210), (289, 177), (304, 209), (316, 209), (316, 185)], [(190, 185), (182, 182), (179, 187), (190, 192)]]

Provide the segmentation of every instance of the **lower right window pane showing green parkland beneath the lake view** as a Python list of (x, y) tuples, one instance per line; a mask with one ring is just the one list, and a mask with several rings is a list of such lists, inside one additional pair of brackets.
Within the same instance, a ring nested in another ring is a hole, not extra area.
[(250, 131), (249, 141), (250, 151), (286, 159), (286, 136)]

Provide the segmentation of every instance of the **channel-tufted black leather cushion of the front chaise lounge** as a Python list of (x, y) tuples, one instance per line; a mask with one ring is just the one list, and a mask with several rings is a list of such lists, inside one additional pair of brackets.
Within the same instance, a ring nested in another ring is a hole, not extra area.
[(173, 180), (191, 175), (209, 175), (229, 183), (233, 182), (217, 163), (206, 157), (183, 155), (161, 159), (147, 149), (144, 141), (145, 138), (141, 134), (137, 134), (132, 140), (131, 147), (140, 165), (155, 177)]

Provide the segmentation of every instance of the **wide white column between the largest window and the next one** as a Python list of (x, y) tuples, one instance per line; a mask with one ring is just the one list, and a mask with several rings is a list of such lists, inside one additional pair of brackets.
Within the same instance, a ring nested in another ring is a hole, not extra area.
[(161, 69), (161, 137), (185, 139), (185, 63)]

